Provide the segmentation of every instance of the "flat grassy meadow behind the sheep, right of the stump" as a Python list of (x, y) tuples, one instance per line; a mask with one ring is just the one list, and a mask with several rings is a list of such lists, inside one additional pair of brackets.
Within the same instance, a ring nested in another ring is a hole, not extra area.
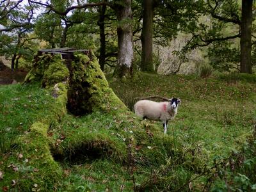
[[(248, 79), (249, 82), (245, 77), (228, 75), (202, 79), (143, 74), (134, 82), (114, 80), (110, 84), (131, 109), (135, 97), (179, 97), (182, 104), (177, 117), (168, 125), (168, 134), (175, 134), (182, 140), (189, 140), (193, 135), (214, 155), (238, 147), (255, 123), (255, 76), (254, 81)], [(161, 123), (157, 125), (163, 129)]]

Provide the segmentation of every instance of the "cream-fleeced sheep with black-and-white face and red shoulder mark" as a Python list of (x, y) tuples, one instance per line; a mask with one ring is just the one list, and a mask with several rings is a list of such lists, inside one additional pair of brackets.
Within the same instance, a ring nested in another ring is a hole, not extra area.
[(172, 98), (168, 102), (154, 102), (152, 100), (139, 100), (134, 104), (134, 113), (140, 118), (160, 120), (163, 122), (164, 134), (167, 132), (168, 120), (173, 120), (181, 103), (180, 99)]

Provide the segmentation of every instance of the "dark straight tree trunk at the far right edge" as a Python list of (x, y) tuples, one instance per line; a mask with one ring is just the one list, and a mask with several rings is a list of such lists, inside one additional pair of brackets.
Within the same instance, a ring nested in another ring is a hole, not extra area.
[(252, 4), (253, 0), (242, 1), (240, 72), (248, 74), (252, 74)]

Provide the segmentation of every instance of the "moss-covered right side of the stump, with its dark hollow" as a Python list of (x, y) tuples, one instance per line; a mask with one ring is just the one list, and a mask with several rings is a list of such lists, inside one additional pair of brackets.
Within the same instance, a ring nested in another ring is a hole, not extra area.
[(92, 56), (90, 60), (84, 54), (77, 54), (72, 67), (68, 90), (68, 108), (72, 113), (81, 115), (98, 110), (109, 112), (113, 111), (113, 108), (127, 111), (123, 102), (109, 88), (95, 57)]

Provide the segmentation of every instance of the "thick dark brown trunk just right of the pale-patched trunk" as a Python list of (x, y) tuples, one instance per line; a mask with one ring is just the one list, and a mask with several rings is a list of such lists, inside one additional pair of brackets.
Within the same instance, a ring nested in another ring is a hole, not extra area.
[(141, 71), (154, 71), (153, 66), (153, 0), (143, 0), (143, 26), (141, 31)]

